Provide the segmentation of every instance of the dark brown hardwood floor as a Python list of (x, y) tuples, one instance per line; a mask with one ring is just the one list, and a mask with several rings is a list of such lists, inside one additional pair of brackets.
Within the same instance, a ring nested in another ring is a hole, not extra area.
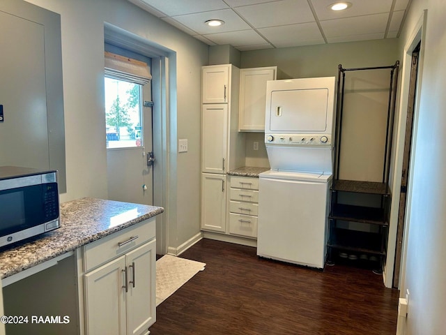
[(151, 335), (394, 335), (398, 290), (381, 275), (324, 271), (256, 256), (256, 248), (203, 239), (182, 258), (206, 263), (157, 307)]

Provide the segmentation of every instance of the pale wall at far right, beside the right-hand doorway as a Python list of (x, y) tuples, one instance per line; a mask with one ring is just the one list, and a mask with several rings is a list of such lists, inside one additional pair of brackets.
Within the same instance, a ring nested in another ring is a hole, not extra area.
[(408, 41), (424, 9), (426, 38), (420, 107), (415, 110), (401, 297), (410, 290), (405, 334), (437, 335), (446, 329), (446, 1), (413, 0), (401, 45)]

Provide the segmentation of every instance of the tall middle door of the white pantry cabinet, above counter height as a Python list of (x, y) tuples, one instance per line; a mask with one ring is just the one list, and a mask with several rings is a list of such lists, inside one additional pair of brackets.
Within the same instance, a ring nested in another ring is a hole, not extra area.
[(203, 105), (201, 171), (226, 173), (228, 106)]

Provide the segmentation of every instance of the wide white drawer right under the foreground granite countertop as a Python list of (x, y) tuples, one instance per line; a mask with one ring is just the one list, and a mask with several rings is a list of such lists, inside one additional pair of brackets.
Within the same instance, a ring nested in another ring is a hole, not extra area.
[(110, 234), (98, 241), (93, 241), (82, 247), (84, 257), (84, 271), (98, 267), (99, 265), (130, 251), (146, 241), (155, 238), (155, 218), (150, 218), (132, 227), (125, 228), (114, 234)]

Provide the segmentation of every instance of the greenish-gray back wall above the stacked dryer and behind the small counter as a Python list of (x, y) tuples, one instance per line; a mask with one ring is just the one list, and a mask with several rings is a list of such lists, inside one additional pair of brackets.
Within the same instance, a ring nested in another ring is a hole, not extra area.
[[(398, 40), (394, 38), (254, 50), (242, 52), (240, 67), (277, 66), (277, 79), (330, 77), (337, 76), (339, 64), (342, 64), (344, 68), (393, 65), (399, 57), (398, 51)], [(387, 106), (385, 106), (385, 111), (387, 111)], [(259, 142), (259, 151), (252, 149), (254, 142)], [(246, 150), (247, 165), (269, 166), (263, 135), (248, 133)], [(380, 149), (375, 151), (380, 152)]]

